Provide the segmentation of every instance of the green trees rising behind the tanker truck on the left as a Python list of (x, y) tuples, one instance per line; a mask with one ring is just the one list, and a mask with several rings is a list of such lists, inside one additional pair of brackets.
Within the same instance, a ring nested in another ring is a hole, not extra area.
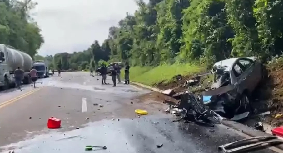
[(44, 42), (29, 11), (37, 3), (31, 0), (0, 0), (0, 44), (8, 44), (32, 57)]

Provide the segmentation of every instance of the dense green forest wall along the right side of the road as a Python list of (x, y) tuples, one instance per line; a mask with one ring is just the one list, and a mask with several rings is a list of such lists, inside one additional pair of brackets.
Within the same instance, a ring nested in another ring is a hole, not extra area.
[(94, 41), (88, 50), (60, 60), (68, 59), (68, 65), (62, 63), (66, 68), (87, 68), (90, 61), (97, 66), (109, 59), (129, 60), (133, 66), (196, 61), (210, 66), (251, 55), (267, 60), (282, 54), (282, 4), (280, 0), (138, 0), (138, 10), (110, 27), (101, 46)]

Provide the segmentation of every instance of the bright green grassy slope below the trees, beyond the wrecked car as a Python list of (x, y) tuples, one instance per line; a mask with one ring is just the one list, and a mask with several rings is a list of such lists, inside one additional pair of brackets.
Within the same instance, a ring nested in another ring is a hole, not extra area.
[[(182, 76), (192, 75), (204, 71), (204, 68), (196, 64), (172, 64), (158, 67), (131, 67), (130, 81), (142, 83), (148, 86), (155, 86), (163, 81), (169, 83), (178, 74)], [(124, 79), (124, 69), (121, 71), (121, 78)]]

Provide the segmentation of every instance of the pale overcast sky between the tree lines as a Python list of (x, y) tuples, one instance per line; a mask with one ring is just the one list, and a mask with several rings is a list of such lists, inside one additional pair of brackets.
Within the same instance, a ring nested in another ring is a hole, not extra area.
[(82, 51), (94, 40), (100, 44), (110, 26), (117, 25), (126, 12), (137, 9), (135, 0), (37, 0), (34, 17), (45, 43), (38, 54)]

